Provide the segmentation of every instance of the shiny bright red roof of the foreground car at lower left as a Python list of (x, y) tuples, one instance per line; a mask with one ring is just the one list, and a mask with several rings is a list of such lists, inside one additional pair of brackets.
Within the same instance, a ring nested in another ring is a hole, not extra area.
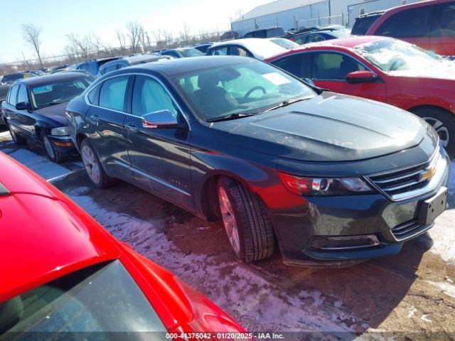
[(0, 163), (0, 302), (119, 257), (114, 239), (65, 195), (4, 153)]

